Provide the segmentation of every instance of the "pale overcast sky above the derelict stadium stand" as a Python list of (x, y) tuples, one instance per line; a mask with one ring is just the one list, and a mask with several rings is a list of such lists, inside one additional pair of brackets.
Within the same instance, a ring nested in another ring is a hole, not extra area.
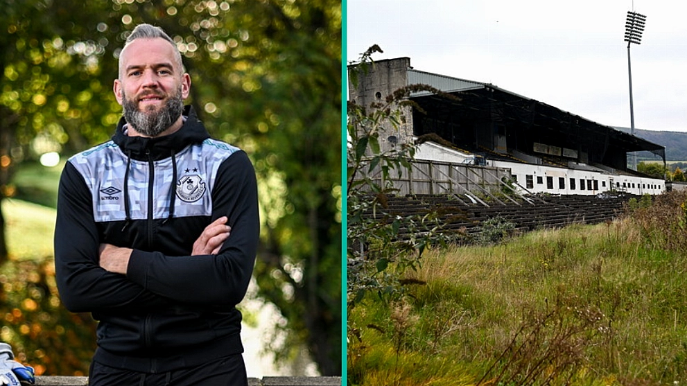
[(410, 57), (419, 71), (487, 82), (609, 126), (687, 132), (687, 1), (347, 0), (347, 62)]

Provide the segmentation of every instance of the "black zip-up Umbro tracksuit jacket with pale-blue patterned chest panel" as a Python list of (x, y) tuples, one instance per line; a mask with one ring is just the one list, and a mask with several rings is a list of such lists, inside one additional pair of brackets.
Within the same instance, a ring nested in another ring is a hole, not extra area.
[[(55, 225), (62, 303), (99, 321), (94, 360), (157, 373), (243, 352), (236, 310), (259, 238), (254, 169), (245, 152), (210, 139), (190, 107), (159, 138), (112, 140), (69, 159)], [(216, 255), (190, 256), (212, 221), (227, 216)], [(98, 247), (133, 250), (127, 274), (98, 266)]]

